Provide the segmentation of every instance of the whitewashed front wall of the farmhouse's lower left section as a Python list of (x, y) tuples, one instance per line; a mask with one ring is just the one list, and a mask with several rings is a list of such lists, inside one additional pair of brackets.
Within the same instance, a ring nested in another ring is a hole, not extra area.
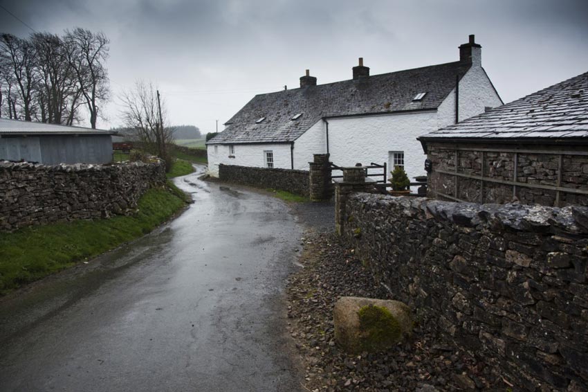
[[(208, 145), (208, 173), (212, 177), (219, 177), (219, 164), (237, 166), (265, 167), (264, 151), (273, 151), (274, 168), (291, 168), (290, 144), (234, 144), (234, 158), (229, 158), (229, 146), (217, 145), (217, 152), (214, 152), (214, 145)], [(306, 163), (308, 166), (308, 163)], [(308, 168), (308, 167), (307, 167)]]

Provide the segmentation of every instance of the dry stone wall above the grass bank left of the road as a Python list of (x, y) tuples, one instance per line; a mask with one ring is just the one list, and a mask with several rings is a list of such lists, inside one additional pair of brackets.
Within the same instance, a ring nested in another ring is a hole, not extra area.
[(131, 213), (147, 189), (163, 184), (162, 161), (57, 166), (2, 161), (0, 230)]

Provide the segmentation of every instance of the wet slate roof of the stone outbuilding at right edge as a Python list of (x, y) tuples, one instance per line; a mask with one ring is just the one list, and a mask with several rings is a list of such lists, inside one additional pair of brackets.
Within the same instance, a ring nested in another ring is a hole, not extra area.
[(588, 72), (419, 138), (430, 139), (588, 140)]

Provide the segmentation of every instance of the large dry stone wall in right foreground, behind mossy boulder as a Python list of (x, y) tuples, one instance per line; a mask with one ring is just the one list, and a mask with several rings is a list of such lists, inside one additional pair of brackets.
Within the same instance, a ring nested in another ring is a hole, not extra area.
[(343, 238), (425, 328), (520, 389), (587, 390), (588, 207), (356, 193), (344, 208)]

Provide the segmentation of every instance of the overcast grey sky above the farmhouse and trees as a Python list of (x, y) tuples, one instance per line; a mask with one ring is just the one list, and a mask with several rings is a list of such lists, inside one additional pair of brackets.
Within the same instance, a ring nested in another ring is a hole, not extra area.
[[(219, 130), (257, 93), (459, 60), (475, 34), (482, 66), (505, 103), (588, 71), (586, 0), (0, 0), (0, 31), (62, 34), (80, 26), (111, 40), (117, 96), (136, 79), (158, 84), (174, 124)], [(25, 26), (28, 25), (27, 26)], [(30, 27), (30, 28), (29, 28)], [(87, 125), (87, 124), (86, 124)]]

